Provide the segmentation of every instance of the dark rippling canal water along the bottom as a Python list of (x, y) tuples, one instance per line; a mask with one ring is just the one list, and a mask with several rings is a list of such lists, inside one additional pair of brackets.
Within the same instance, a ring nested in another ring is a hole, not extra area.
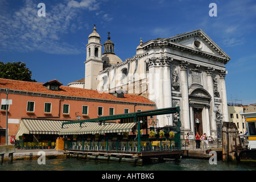
[(187, 158), (143, 166), (67, 158), (48, 159), (46, 164), (41, 165), (37, 160), (14, 160), (13, 163), (4, 161), (0, 164), (0, 171), (256, 171), (256, 167), (221, 160), (218, 160), (217, 164), (210, 164), (206, 159)]

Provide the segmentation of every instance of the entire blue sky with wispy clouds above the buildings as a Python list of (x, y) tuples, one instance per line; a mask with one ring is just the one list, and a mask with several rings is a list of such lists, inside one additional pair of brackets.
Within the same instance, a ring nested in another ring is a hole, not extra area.
[[(45, 17), (38, 16), (38, 3), (45, 3)], [(217, 16), (209, 16), (210, 3), (216, 3)], [(231, 57), (227, 100), (256, 103), (255, 0), (0, 0), (0, 61), (23, 61), (38, 82), (56, 78), (67, 85), (85, 75), (93, 24), (102, 44), (111, 32), (123, 61), (135, 55), (140, 38), (201, 28)]]

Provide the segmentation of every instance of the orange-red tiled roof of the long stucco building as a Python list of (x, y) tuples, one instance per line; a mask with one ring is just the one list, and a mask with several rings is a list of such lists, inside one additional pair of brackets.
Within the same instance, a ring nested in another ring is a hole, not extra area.
[(124, 102), (135, 102), (143, 104), (155, 104), (143, 96), (136, 96), (131, 94), (123, 94), (124, 98), (117, 98), (109, 93), (99, 93), (97, 90), (74, 88), (70, 86), (59, 86), (58, 91), (48, 90), (43, 83), (9, 80), (0, 78), (0, 88), (9, 88), (10, 90), (21, 90), (35, 93), (46, 93), (61, 96), (73, 96), (73, 97), (85, 97), (85, 98), (96, 98), (101, 100), (111, 101), (124, 101)]

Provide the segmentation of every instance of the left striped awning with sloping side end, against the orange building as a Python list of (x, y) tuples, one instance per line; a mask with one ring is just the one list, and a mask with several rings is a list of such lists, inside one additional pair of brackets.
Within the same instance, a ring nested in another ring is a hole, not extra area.
[[(59, 134), (62, 130), (62, 123), (65, 121), (61, 120), (44, 120), (44, 119), (22, 119), (21, 125), (17, 131), (16, 137), (23, 134)], [(69, 130), (76, 129), (80, 126), (79, 123), (73, 123), (69, 125), (64, 125), (64, 127), (69, 126)], [(82, 127), (94, 128), (98, 127), (98, 122), (85, 122), (82, 123)]]

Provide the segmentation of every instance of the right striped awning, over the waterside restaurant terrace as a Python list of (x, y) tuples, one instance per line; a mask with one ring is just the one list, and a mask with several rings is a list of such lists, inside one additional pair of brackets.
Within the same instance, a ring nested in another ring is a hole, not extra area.
[(96, 127), (70, 127), (62, 129), (59, 135), (72, 135), (72, 134), (103, 134), (103, 133), (119, 133), (119, 132), (130, 132), (135, 126), (135, 122), (122, 123), (122, 124), (106, 124)]

